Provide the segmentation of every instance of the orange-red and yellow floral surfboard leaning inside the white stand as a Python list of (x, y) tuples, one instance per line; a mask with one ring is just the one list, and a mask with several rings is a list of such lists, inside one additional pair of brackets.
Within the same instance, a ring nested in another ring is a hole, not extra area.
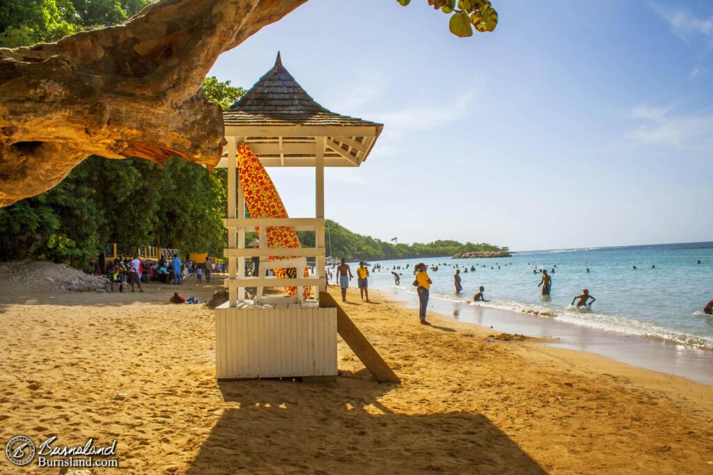
[[(280, 199), (275, 184), (272, 183), (270, 175), (265, 167), (252, 152), (250, 146), (245, 143), (240, 144), (237, 149), (237, 172), (240, 180), (242, 193), (245, 195), (247, 212), (252, 218), (288, 218), (287, 209), (284, 209), (282, 199)], [(257, 231), (257, 229), (256, 229)], [(267, 248), (299, 248), (299, 239), (292, 226), (267, 226)], [(260, 243), (262, 247), (264, 243)], [(289, 257), (269, 257), (272, 259), (294, 259)], [(275, 269), (275, 276), (279, 278), (294, 278), (297, 276), (297, 269)], [(309, 277), (309, 271), (304, 269), (304, 276)], [(295, 287), (285, 287), (285, 291), (291, 296), (297, 292)], [(310, 296), (309, 287), (305, 287), (302, 296), (307, 299)]]

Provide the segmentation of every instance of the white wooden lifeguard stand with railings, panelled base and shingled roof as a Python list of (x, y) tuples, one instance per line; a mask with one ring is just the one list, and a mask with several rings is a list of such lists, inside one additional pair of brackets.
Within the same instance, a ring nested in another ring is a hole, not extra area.
[[(282, 66), (275, 66), (228, 110), (223, 111), (227, 167), (227, 249), (229, 300), (215, 310), (216, 373), (218, 379), (255, 377), (334, 377), (337, 375), (337, 309), (319, 308), (319, 291), (326, 291), (324, 275), (324, 167), (359, 167), (369, 155), (383, 125), (332, 113), (314, 102)], [(314, 217), (270, 219), (245, 217), (245, 197), (237, 179), (237, 147), (245, 142), (265, 167), (314, 167)], [(292, 226), (313, 231), (314, 248), (267, 249), (266, 226)], [(260, 228), (260, 247), (247, 249), (245, 233)], [(245, 258), (260, 258), (260, 276), (245, 276)], [(304, 266), (316, 261), (314, 277), (262, 275), (267, 258), (277, 268)], [(304, 260), (303, 260), (304, 259)], [(245, 288), (309, 286), (308, 301), (301, 292), (257, 301), (245, 299)], [(299, 298), (298, 298), (299, 296)]]

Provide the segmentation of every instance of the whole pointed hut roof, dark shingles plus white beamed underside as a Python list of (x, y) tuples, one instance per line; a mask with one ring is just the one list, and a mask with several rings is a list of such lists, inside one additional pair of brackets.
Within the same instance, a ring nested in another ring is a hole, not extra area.
[[(275, 66), (222, 115), (227, 140), (246, 142), (265, 167), (314, 167), (319, 149), (324, 167), (359, 167), (384, 127), (319, 105), (279, 53)], [(227, 152), (217, 166), (227, 167)]]

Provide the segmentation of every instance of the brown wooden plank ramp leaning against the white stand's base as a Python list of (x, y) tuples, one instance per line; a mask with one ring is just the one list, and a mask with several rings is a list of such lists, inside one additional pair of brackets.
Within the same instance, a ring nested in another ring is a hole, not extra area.
[(352, 351), (359, 357), (359, 360), (364, 363), (366, 369), (371, 372), (379, 382), (396, 382), (399, 383), (399, 377), (396, 376), (394, 370), (386, 364), (386, 361), (374, 350), (369, 340), (366, 340), (359, 328), (356, 328), (352, 319), (349, 318), (347, 312), (339, 306), (334, 297), (327, 292), (319, 293), (319, 306), (324, 308), (337, 309), (337, 333), (344, 341), (352, 348)]

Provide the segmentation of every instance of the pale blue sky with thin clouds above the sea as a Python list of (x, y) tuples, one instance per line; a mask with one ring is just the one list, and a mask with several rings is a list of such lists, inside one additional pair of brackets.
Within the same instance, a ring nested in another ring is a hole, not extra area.
[[(282, 52), (318, 103), (384, 123), (327, 169), (327, 217), (400, 242), (514, 250), (713, 240), (713, 1), (496, 0), (456, 38), (426, 0), (309, 0), (223, 53), (250, 88)], [(268, 169), (290, 216), (312, 169)]]

